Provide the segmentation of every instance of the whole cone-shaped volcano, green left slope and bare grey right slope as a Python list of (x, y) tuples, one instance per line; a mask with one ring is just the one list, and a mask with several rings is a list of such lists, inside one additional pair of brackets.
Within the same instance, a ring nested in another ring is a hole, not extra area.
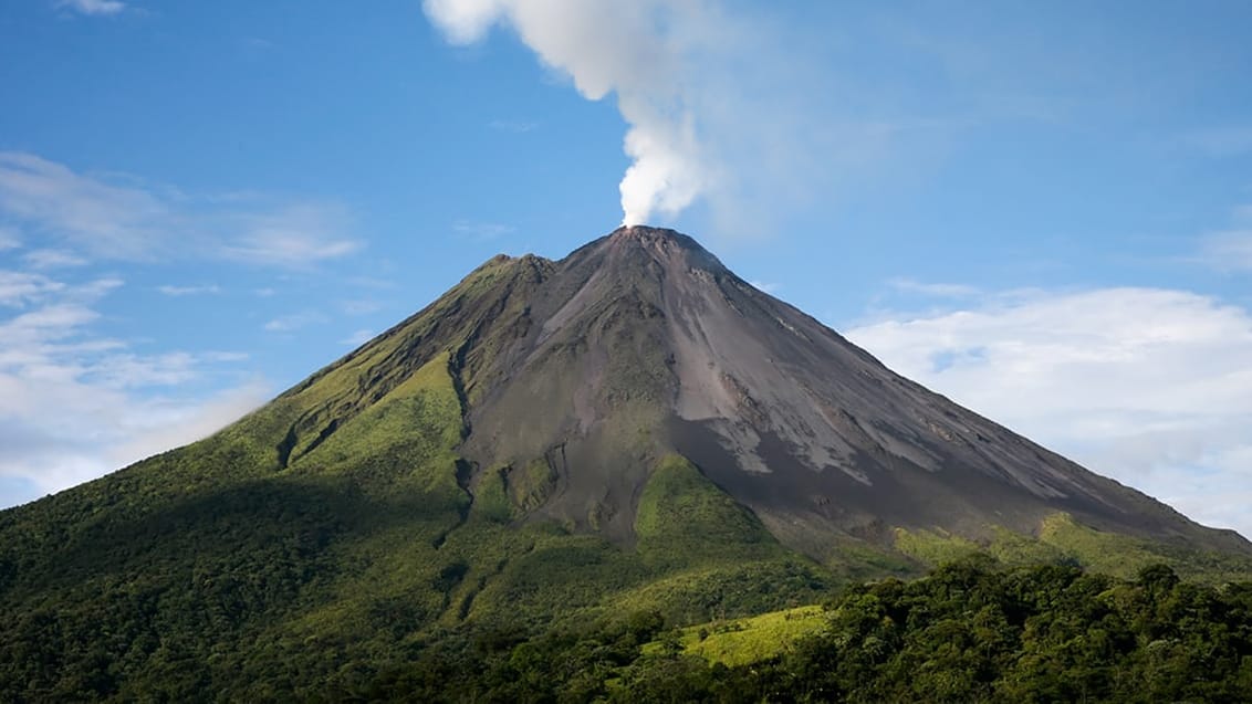
[(308, 698), (462, 628), (699, 623), (979, 551), (1252, 575), (1236, 533), (620, 228), (496, 256), (215, 435), (0, 513), (0, 699)]

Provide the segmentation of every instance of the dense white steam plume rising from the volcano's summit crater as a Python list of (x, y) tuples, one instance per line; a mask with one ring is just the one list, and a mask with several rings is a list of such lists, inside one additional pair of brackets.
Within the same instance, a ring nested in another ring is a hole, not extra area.
[[(700, 196), (725, 191), (710, 66), (732, 44), (730, 24), (705, 0), (426, 0), (427, 16), (456, 44), (512, 28), (548, 66), (573, 79), (588, 100), (610, 93), (630, 124), (632, 159), (621, 181), (623, 224), (676, 215)], [(699, 80), (697, 80), (699, 79)]]

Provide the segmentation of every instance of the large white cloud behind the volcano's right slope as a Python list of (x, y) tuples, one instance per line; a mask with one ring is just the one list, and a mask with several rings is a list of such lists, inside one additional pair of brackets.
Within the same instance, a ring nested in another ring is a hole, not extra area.
[(848, 330), (888, 366), (1252, 535), (1252, 314), (1166, 289), (990, 296)]

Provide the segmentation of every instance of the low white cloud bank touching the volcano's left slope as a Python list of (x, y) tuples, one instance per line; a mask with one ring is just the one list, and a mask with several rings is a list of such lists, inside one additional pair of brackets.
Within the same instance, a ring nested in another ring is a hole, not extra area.
[[(24, 309), (0, 318), (0, 476), (58, 491), (202, 438), (264, 399), (258, 381), (185, 395), (238, 361), (232, 353), (144, 355), (94, 331), (96, 304), (120, 285), (0, 274), (0, 300)], [(0, 494), (0, 505), (31, 498)]]

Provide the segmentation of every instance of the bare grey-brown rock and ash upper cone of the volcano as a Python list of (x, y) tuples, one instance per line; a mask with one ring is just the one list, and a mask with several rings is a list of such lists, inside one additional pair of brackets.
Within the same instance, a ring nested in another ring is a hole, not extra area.
[(1248, 551), (891, 373), (672, 230), (620, 228), (560, 261), (496, 258), (393, 335), (411, 338), (401, 368), (452, 350), (471, 485), (541, 459), (532, 515), (615, 540), (632, 539), (649, 473), (676, 451), (814, 555), (893, 526), (1029, 533), (1057, 511)]

